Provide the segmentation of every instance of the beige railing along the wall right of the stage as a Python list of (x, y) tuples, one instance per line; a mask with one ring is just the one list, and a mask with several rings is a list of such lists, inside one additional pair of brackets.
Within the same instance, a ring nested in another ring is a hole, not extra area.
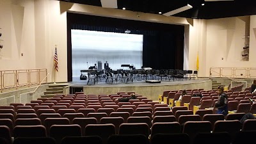
[(256, 68), (211, 67), (210, 77), (256, 78)]

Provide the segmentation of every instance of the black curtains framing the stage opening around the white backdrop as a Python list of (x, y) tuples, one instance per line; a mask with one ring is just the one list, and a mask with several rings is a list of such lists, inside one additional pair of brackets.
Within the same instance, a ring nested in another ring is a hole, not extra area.
[(67, 13), (68, 81), (72, 81), (71, 29), (143, 35), (143, 67), (182, 69), (184, 26)]

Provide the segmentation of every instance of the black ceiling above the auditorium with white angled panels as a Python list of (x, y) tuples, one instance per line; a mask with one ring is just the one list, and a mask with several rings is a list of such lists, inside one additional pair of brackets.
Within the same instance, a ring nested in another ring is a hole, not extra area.
[[(102, 6), (100, 0), (59, 0), (70, 3)], [(115, 1), (115, 0), (111, 0)], [(143, 13), (167, 13), (177, 8), (190, 4), (193, 8), (177, 13), (175, 17), (187, 17), (195, 19), (217, 19), (223, 17), (237, 17), (244, 15), (256, 15), (255, 0), (116, 0), (118, 9)], [(202, 6), (204, 3), (204, 6)]]

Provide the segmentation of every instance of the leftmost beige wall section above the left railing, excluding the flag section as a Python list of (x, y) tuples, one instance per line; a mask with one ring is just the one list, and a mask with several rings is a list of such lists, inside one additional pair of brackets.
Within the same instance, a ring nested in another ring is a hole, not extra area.
[(33, 0), (0, 1), (1, 39), (4, 40), (1, 42), (4, 47), (0, 50), (0, 70), (35, 68), (33, 11)]

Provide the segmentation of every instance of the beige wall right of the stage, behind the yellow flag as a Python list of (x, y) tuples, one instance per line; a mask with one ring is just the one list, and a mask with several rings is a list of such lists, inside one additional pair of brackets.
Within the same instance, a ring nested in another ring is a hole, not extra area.
[(199, 77), (209, 77), (211, 67), (255, 67), (252, 62), (255, 61), (252, 56), (255, 38), (250, 37), (249, 61), (244, 61), (241, 56), (244, 36), (252, 33), (252, 20), (255, 21), (255, 18), (246, 16), (194, 20), (189, 26), (189, 69), (196, 70), (197, 52)]

